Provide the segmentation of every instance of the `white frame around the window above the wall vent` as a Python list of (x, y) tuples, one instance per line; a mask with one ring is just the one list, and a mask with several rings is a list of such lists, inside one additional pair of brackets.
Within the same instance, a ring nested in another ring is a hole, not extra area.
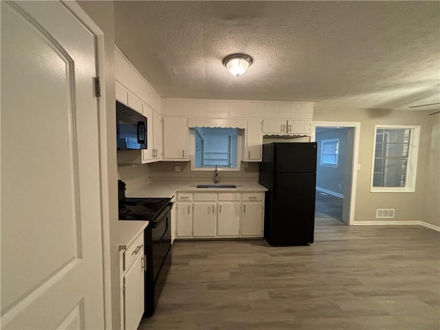
[[(377, 129), (410, 129), (411, 131), (409, 151), (408, 151), (408, 164), (406, 166), (405, 187), (374, 187), (373, 186)], [(415, 192), (415, 182), (417, 175), (417, 156), (419, 154), (419, 140), (420, 140), (420, 126), (382, 125), (382, 124), (376, 124), (374, 126), (370, 192)]]

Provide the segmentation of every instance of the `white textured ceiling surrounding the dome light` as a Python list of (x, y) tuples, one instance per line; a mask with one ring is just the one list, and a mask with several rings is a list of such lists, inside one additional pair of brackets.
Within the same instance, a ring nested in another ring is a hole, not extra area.
[[(408, 109), (440, 102), (439, 13), (439, 1), (115, 1), (115, 39), (165, 98)], [(222, 64), (236, 52), (254, 59), (239, 78)]]

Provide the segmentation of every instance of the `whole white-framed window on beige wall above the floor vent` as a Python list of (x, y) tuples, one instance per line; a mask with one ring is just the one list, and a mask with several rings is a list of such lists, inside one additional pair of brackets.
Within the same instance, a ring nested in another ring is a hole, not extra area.
[(371, 192), (414, 192), (420, 126), (375, 125)]

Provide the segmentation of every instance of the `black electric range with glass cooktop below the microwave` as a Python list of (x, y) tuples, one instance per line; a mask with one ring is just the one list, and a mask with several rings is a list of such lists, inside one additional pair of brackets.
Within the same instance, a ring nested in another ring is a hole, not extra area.
[(118, 180), (119, 219), (149, 221), (144, 231), (145, 307), (151, 316), (172, 263), (170, 198), (126, 198), (125, 183)]

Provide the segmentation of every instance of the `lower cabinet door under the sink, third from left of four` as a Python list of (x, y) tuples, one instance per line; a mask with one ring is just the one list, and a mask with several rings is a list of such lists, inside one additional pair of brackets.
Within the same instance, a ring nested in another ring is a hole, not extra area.
[(217, 219), (218, 236), (240, 235), (240, 203), (219, 203)]

